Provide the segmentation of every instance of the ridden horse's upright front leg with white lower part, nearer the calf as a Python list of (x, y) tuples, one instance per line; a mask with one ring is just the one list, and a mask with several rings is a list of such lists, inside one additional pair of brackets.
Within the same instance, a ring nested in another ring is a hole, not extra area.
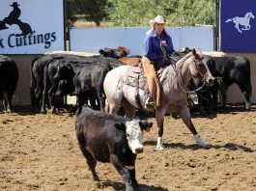
[(157, 123), (157, 133), (158, 133), (157, 143), (156, 143), (157, 150), (163, 150), (162, 135), (163, 135), (164, 114), (165, 114), (165, 109), (156, 110), (156, 123)]

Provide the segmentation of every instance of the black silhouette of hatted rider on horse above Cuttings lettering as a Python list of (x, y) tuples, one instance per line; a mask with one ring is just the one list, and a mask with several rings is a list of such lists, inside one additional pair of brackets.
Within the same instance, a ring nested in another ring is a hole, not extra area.
[(7, 17), (5, 17), (4, 20), (0, 20), (0, 31), (8, 29), (6, 24), (16, 24), (21, 31), (21, 34), (15, 35), (16, 37), (32, 35), (34, 32), (32, 31), (31, 26), (28, 23), (22, 22), (20, 19), (18, 19), (21, 14), (21, 10), (18, 8), (20, 5), (18, 5), (17, 2), (14, 2), (10, 6), (13, 7), (14, 10)]

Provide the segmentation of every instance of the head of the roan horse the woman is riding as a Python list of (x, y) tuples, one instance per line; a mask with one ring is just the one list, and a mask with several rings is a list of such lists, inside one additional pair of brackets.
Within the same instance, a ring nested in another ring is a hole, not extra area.
[(201, 49), (193, 49), (194, 62), (189, 66), (191, 75), (201, 80), (205, 85), (213, 86), (214, 77), (207, 62), (211, 62), (211, 57), (204, 58)]

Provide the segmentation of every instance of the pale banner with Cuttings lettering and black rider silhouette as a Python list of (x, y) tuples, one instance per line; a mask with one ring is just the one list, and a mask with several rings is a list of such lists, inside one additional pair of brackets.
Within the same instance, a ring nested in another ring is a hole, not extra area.
[(0, 54), (64, 50), (64, 0), (0, 0)]

